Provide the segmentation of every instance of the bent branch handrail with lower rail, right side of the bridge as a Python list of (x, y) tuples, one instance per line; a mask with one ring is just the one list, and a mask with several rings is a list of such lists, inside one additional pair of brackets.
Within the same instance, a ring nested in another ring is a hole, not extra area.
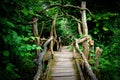
[(85, 76), (83, 75), (84, 72), (82, 72), (83, 70), (81, 69), (81, 67), (84, 67), (84, 69), (86, 69), (85, 71), (87, 72), (87, 75), (89, 75), (91, 80), (97, 80), (95, 74), (93, 73), (93, 71), (91, 69), (90, 64), (88, 63), (88, 59), (86, 58), (85, 54), (79, 48), (80, 43), (83, 43), (84, 41), (88, 41), (89, 39), (90, 39), (90, 37), (76, 39), (75, 42), (73, 43), (73, 53), (75, 55), (74, 57), (76, 58), (76, 51), (77, 51), (77, 53), (79, 53), (79, 56), (82, 61), (82, 64), (79, 64), (79, 61), (76, 59), (76, 64), (78, 67), (78, 71), (79, 71), (81, 80), (85, 80)]

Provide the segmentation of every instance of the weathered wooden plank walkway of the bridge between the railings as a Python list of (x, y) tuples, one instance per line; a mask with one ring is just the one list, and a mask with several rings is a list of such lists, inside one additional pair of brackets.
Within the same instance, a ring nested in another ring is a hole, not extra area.
[(50, 80), (78, 80), (74, 65), (72, 51), (63, 46), (61, 52), (55, 52)]

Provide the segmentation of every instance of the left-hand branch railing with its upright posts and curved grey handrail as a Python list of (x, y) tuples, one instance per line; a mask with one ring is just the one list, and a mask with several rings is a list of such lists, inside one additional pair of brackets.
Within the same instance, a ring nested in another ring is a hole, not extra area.
[[(48, 50), (50, 50), (51, 52), (51, 58), (53, 59), (53, 47), (54, 47), (54, 44), (56, 43), (57, 44), (57, 50), (59, 48), (59, 41), (57, 40), (57, 34), (56, 34), (56, 29), (55, 29), (55, 22), (56, 22), (56, 19), (57, 19), (57, 15), (58, 13), (56, 13), (53, 21), (52, 21), (52, 27), (51, 27), (51, 31), (50, 31), (50, 38), (46, 40), (46, 42), (44, 43), (43, 45), (43, 50), (40, 51), (40, 50), (36, 50), (36, 60), (35, 60), (35, 63), (37, 64), (37, 72), (36, 72), (36, 75), (34, 76), (34, 80), (39, 80), (41, 79), (41, 76), (44, 74), (43, 73), (43, 58), (44, 58), (44, 55), (47, 53)], [(37, 17), (34, 17), (33, 18), (33, 22), (31, 22), (33, 24), (33, 34), (34, 34), (34, 37), (37, 37), (35, 43), (37, 46), (40, 46), (40, 42), (41, 42), (41, 34), (42, 34), (42, 30), (41, 29), (41, 32), (40, 32), (40, 35), (38, 34), (38, 28), (37, 28), (37, 20), (38, 18)], [(42, 25), (42, 28), (44, 26), (44, 23)], [(49, 49), (47, 48), (47, 45), (50, 43), (50, 47)]]

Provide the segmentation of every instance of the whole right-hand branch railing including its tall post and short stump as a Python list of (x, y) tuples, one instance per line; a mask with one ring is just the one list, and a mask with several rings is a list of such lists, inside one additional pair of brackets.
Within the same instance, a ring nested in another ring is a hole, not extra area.
[[(78, 32), (79, 35), (82, 38), (75, 39), (74, 42), (72, 42), (73, 45), (73, 53), (76, 55), (76, 53), (79, 53), (81, 61), (78, 61), (76, 59), (76, 64), (78, 66), (79, 74), (81, 77), (81, 80), (87, 80), (89, 78), (90, 80), (98, 80), (95, 72), (93, 72), (91, 65), (89, 63), (90, 60), (92, 60), (90, 54), (95, 55), (95, 66), (96, 68), (99, 65), (99, 58), (102, 50), (97, 47), (96, 51), (94, 50), (94, 40), (92, 40), (92, 37), (88, 35), (88, 26), (87, 26), (87, 19), (86, 19), (86, 2), (83, 1), (81, 3), (81, 23), (77, 21), (78, 23)], [(79, 44), (81, 44), (82, 50), (79, 48)], [(75, 56), (76, 58), (76, 56)], [(80, 64), (79, 64), (80, 63)]]

